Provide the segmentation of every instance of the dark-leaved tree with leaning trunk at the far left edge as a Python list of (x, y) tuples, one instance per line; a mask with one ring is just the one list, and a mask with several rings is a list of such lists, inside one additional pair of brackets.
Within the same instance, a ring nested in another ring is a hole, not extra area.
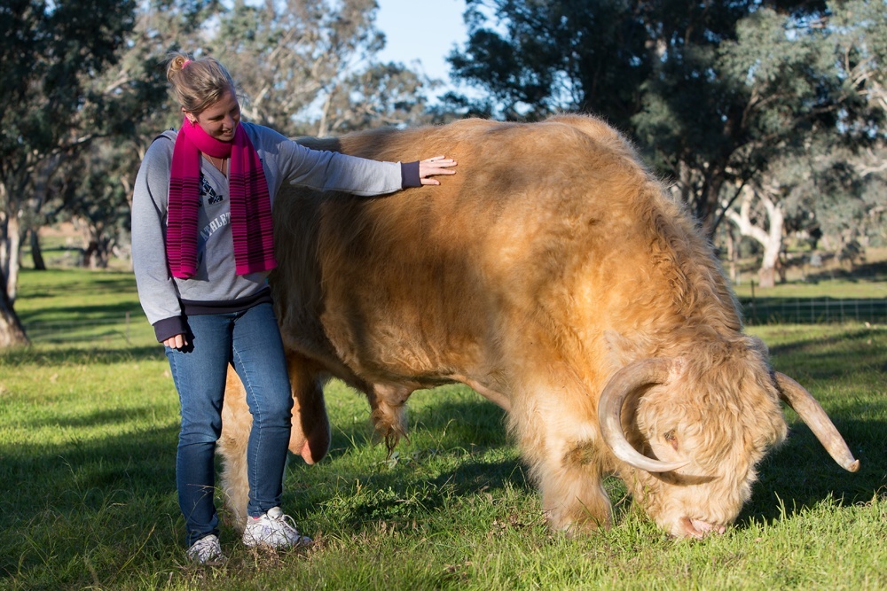
[(27, 342), (12, 308), (21, 218), (67, 154), (102, 133), (106, 97), (87, 81), (116, 60), (133, 0), (0, 4), (0, 346)]

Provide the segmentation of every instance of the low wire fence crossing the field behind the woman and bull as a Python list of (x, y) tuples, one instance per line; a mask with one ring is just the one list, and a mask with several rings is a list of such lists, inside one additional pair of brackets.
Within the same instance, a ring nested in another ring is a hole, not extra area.
[[(740, 304), (748, 324), (887, 323), (887, 298), (746, 298)], [(153, 339), (153, 329), (141, 311), (122, 317), (35, 321), (25, 323), (25, 331), (33, 343), (119, 338), (132, 344)]]

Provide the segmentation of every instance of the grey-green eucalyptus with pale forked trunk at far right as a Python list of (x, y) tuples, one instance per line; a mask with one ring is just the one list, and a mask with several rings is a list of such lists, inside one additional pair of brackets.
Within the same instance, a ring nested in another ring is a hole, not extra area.
[[(733, 196), (721, 194), (726, 217), (764, 247), (762, 286), (773, 284), (789, 214), (824, 232), (836, 253), (880, 239), (887, 196), (877, 187), (887, 166), (875, 154), (884, 144), (885, 7), (883, 0), (856, 0), (804, 21), (762, 11), (743, 21), (737, 42), (725, 44), (722, 63), (734, 77), (744, 74), (752, 95), (766, 103), (750, 126), (768, 148), (750, 153), (765, 160), (750, 161), (752, 174)], [(754, 219), (752, 200), (761, 206)]]

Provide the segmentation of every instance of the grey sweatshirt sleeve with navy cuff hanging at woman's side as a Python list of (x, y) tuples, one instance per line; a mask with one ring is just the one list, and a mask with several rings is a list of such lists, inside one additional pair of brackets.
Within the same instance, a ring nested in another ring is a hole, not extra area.
[(161, 136), (149, 146), (132, 195), (132, 266), (138, 299), (158, 342), (184, 333), (176, 284), (166, 259), (166, 216), (173, 142)]

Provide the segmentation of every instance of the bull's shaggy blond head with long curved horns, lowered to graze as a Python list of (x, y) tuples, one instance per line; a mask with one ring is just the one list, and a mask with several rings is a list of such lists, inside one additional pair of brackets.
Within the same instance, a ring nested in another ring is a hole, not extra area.
[(687, 359), (633, 362), (601, 394), (601, 433), (624, 463), (620, 473), (672, 535), (702, 538), (733, 523), (750, 497), (755, 464), (785, 438), (780, 399), (837, 463), (859, 469), (810, 393), (753, 352), (741, 356), (704, 367)]

